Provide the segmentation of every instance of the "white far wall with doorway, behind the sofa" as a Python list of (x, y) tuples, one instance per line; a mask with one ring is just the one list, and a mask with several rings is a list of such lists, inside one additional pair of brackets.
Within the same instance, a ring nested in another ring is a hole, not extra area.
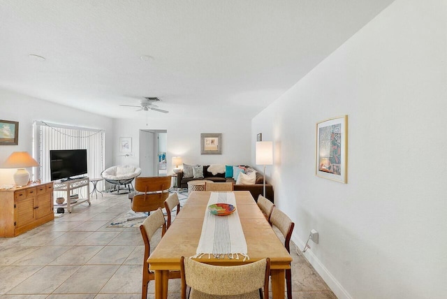
[[(155, 113), (155, 112), (154, 112)], [(139, 164), (138, 132), (140, 129), (167, 130), (167, 169), (173, 173), (172, 157), (182, 156), (183, 163), (209, 165), (223, 163), (228, 165), (247, 164), (251, 156), (251, 121), (249, 119), (206, 119), (203, 115), (196, 118), (156, 119), (149, 115), (149, 125), (146, 126), (146, 115), (140, 119), (115, 119), (115, 164)], [(200, 154), (200, 133), (222, 133), (222, 154)], [(133, 155), (119, 155), (119, 137), (132, 138)]]

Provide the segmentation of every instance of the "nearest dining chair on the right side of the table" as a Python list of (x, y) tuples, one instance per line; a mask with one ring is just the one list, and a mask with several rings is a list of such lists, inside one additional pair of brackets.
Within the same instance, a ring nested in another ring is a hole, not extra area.
[[(284, 247), (286, 247), (288, 253), (291, 253), (291, 237), (295, 224), (292, 220), (284, 214), (277, 207), (274, 207), (272, 214), (270, 214), (270, 224), (276, 226), (281, 234), (284, 236)], [(286, 270), (286, 286), (287, 286), (287, 299), (292, 299), (292, 270)]]

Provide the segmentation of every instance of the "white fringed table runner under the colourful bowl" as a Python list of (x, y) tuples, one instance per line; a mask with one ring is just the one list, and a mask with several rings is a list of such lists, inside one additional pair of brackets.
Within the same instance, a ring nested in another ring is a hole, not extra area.
[[(207, 206), (214, 203), (229, 203), (236, 207), (235, 194), (233, 192), (211, 192)], [(239, 255), (242, 255), (245, 261), (249, 259), (247, 251), (247, 242), (244, 231), (242, 231), (237, 207), (235, 212), (228, 216), (217, 216), (207, 209), (196, 255), (191, 257), (201, 258), (208, 254), (208, 258), (210, 258), (212, 254), (214, 258), (224, 258), (227, 255), (228, 258), (239, 259)]]

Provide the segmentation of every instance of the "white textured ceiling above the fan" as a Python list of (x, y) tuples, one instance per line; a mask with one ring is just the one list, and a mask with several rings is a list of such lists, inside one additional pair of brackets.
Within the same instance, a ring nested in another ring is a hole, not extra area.
[(0, 0), (0, 88), (109, 117), (158, 96), (170, 113), (149, 117), (251, 118), (391, 2)]

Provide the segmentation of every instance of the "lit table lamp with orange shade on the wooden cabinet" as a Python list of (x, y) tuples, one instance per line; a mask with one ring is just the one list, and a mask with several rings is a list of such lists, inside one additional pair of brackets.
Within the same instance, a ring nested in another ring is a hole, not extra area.
[(28, 152), (13, 152), (1, 164), (1, 168), (17, 168), (17, 172), (14, 174), (14, 182), (17, 187), (26, 186), (29, 182), (29, 172), (25, 167), (36, 166), (39, 166), (39, 163)]

